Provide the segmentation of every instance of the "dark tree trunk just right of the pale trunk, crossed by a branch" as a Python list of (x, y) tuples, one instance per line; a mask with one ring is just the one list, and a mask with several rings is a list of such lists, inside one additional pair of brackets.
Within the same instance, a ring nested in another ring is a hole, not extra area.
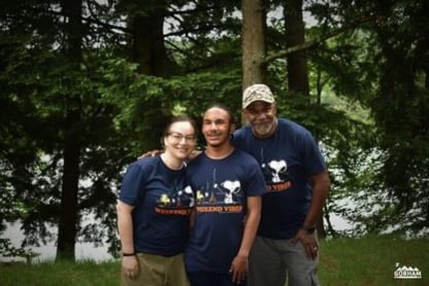
[[(288, 0), (284, 9), (286, 44), (288, 48), (305, 42), (305, 27), (302, 17), (302, 0)], [(309, 79), (305, 51), (287, 56), (289, 90), (309, 96)]]

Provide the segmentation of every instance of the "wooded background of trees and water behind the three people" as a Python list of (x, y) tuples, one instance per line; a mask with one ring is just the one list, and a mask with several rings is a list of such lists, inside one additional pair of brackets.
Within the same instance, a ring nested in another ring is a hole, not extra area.
[[(222, 102), (240, 117), (259, 82), (326, 155), (322, 236), (427, 235), (428, 15), (425, 0), (3, 3), (0, 234), (19, 221), (25, 238), (1, 237), (0, 254), (55, 241), (75, 260), (80, 241), (117, 256), (126, 165), (159, 148), (172, 114)], [(354, 229), (336, 231), (333, 214)]]

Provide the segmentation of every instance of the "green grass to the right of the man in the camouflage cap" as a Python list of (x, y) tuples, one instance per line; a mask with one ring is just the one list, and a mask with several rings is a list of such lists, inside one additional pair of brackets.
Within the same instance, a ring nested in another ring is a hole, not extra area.
[[(429, 285), (429, 239), (395, 235), (341, 238), (320, 243), (322, 285)], [(393, 279), (396, 263), (419, 268), (422, 279)]]

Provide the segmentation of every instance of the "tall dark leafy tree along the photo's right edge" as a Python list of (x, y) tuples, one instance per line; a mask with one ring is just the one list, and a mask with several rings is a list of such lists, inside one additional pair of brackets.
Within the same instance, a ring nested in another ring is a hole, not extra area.
[[(429, 89), (424, 78), (429, 59), (429, 4), (393, 2), (379, 9), (380, 14), (388, 12), (389, 18), (375, 29), (385, 61), (379, 65), (379, 90), (372, 110), (381, 132), (380, 147), (386, 152), (379, 179), (395, 201), (386, 207), (396, 217), (390, 221), (380, 214), (380, 221), (418, 231), (429, 225), (429, 184), (423, 179), (429, 176), (429, 130), (425, 123), (429, 120)], [(398, 10), (404, 12), (402, 17)]]

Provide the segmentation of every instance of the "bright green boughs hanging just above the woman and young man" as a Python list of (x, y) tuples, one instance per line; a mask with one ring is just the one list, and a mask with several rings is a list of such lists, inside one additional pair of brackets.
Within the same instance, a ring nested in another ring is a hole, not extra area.
[[(158, 114), (165, 118), (180, 107), (181, 112), (199, 120), (204, 108), (214, 102), (234, 107), (236, 115), (239, 114), (241, 99), (232, 96), (239, 94), (241, 89), (238, 71), (198, 72), (161, 78), (137, 75), (135, 66), (126, 61), (109, 60), (103, 68), (108, 72), (106, 84), (99, 89), (101, 100), (119, 108), (115, 126), (130, 136), (127, 140), (133, 142), (130, 152), (134, 156), (143, 150), (159, 148), (165, 122), (158, 122), (156, 126), (149, 124)], [(160, 106), (148, 106), (152, 99), (157, 99)], [(155, 138), (151, 141), (155, 145), (145, 142), (143, 138), (148, 136)]]

